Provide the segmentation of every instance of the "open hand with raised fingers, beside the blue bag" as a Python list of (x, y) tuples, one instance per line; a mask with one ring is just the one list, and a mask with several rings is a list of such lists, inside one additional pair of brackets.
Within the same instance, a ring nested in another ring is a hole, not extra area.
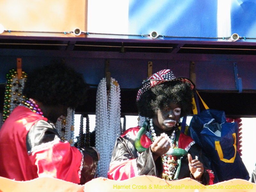
[(204, 165), (198, 159), (192, 160), (192, 156), (188, 154), (188, 166), (195, 179), (201, 181), (201, 176), (204, 172)]

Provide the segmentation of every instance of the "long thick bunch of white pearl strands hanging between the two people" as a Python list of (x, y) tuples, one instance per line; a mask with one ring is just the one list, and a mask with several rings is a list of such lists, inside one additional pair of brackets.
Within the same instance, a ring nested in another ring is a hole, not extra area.
[(120, 136), (121, 127), (121, 100), (120, 87), (115, 85), (111, 78), (109, 96), (107, 97), (106, 78), (103, 78), (96, 95), (96, 124), (95, 147), (100, 153), (98, 162), (100, 177), (108, 177), (110, 164), (116, 138)]

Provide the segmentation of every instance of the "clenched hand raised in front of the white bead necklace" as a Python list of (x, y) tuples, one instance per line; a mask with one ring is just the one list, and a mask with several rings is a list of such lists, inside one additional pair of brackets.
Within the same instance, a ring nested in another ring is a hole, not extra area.
[(167, 134), (162, 133), (151, 145), (151, 151), (153, 152), (154, 161), (161, 156), (167, 153), (171, 147), (171, 140)]

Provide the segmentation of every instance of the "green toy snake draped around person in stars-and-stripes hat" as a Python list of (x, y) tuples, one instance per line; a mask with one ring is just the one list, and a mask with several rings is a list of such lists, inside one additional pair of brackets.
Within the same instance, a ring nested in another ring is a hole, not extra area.
[[(140, 143), (141, 136), (147, 131), (147, 126), (148, 126), (148, 122), (144, 121), (142, 127), (140, 128), (140, 130), (138, 131), (138, 133), (136, 135), (136, 138), (134, 139), (135, 148), (137, 149), (137, 151), (139, 153), (142, 153), (142, 152), (146, 151), (146, 149), (147, 149), (147, 148), (142, 147), (142, 145)], [(180, 157), (188, 155), (188, 152), (186, 150), (178, 148), (179, 137), (180, 137), (180, 132), (177, 132), (176, 139), (175, 139), (175, 144), (177, 147), (171, 147), (169, 149), (169, 151), (166, 153), (167, 155), (177, 157), (178, 167), (177, 167), (176, 173), (174, 175), (174, 180), (178, 179), (178, 175), (180, 172), (180, 164), (181, 164)]]

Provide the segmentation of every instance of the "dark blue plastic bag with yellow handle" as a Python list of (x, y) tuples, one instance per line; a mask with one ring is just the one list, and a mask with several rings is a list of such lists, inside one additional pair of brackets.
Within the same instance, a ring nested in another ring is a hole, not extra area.
[(237, 152), (237, 133), (237, 122), (227, 123), (224, 111), (206, 109), (191, 119), (188, 135), (208, 157), (215, 176), (214, 183), (250, 178)]

